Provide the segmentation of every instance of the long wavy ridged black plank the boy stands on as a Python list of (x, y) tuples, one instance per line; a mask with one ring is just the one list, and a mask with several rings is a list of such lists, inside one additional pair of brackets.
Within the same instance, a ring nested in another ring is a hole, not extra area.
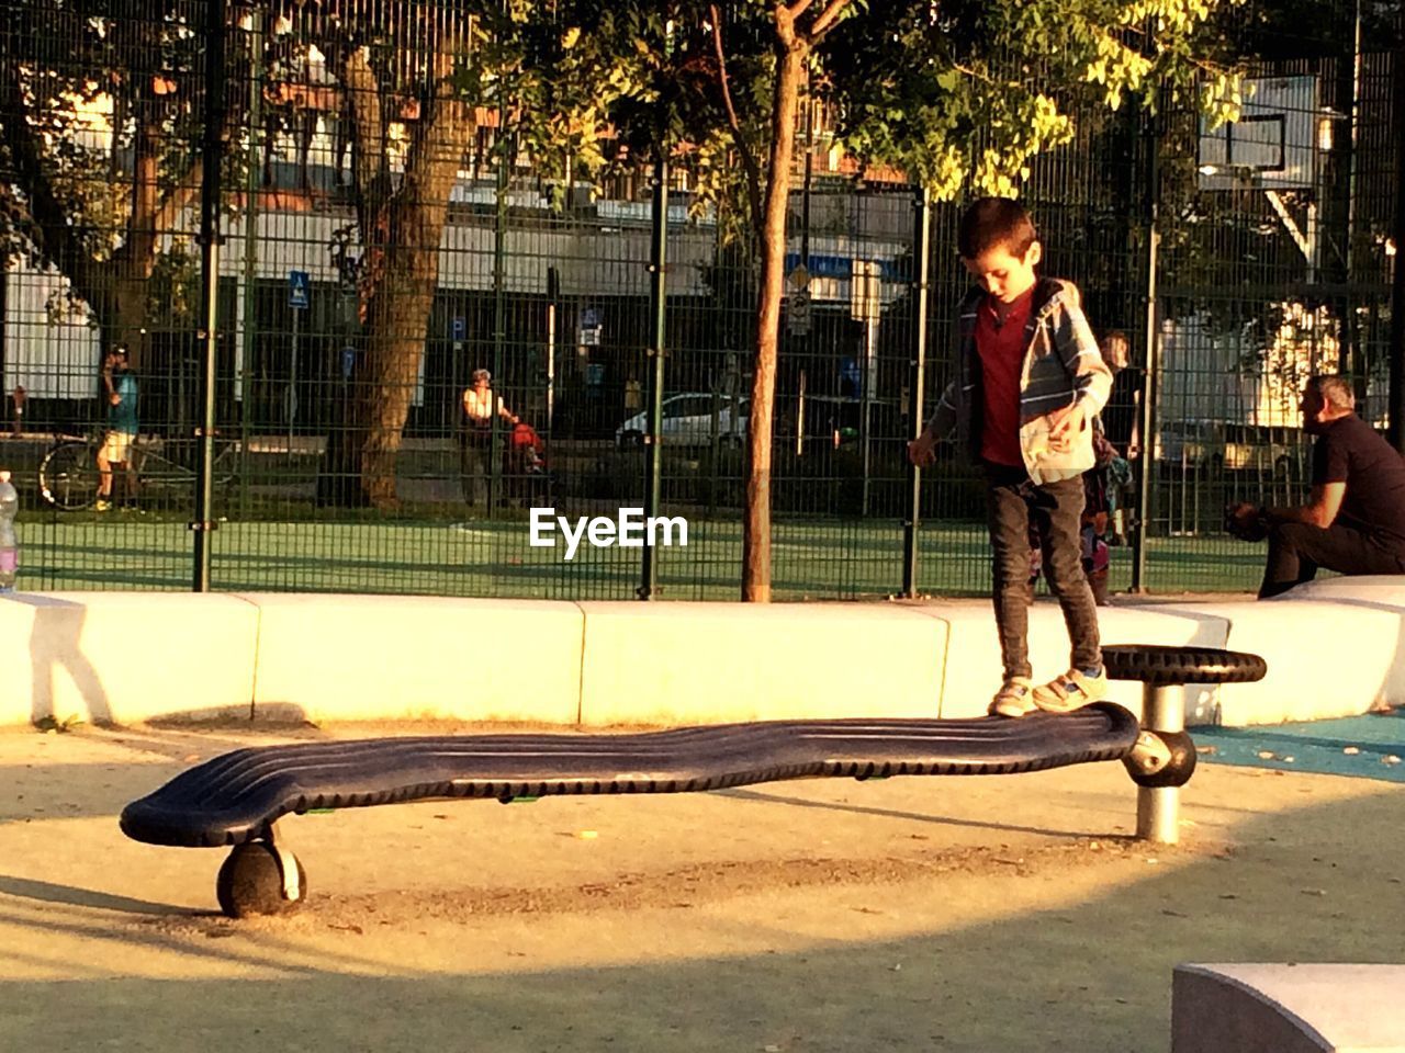
[(645, 734), (495, 734), (270, 746), (216, 757), (122, 810), (138, 841), (259, 837), (280, 816), (426, 797), (681, 793), (815, 776), (1003, 775), (1114, 761), (1137, 719), (1114, 705), (1021, 720), (784, 720)]

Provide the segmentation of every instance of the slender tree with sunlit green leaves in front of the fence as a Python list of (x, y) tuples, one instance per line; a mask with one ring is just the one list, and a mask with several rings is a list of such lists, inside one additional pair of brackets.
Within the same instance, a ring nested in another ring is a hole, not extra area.
[[(1204, 77), (1201, 105), (1231, 115), (1236, 77), (1203, 58), (1197, 39), (1205, 20), (1232, 3), (690, 0), (667, 8), (667, 45), (652, 67), (641, 66), (641, 81), (673, 108), (669, 124), (711, 168), (704, 185), (740, 191), (757, 237), (745, 600), (771, 592), (776, 359), (805, 93), (837, 114), (835, 131), (851, 153), (903, 170), (939, 198), (965, 187), (1013, 195), (1034, 154), (1072, 138), (1071, 100), (1094, 95), (1116, 110), (1135, 95), (1149, 105), (1162, 86), (1191, 91)], [(656, 46), (658, 38), (645, 39)]]

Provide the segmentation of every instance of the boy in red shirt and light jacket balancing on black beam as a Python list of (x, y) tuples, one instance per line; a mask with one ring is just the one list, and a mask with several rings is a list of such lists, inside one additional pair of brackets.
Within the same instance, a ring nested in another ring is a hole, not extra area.
[[(1019, 202), (976, 201), (961, 219), (957, 247), (978, 288), (961, 302), (955, 376), (920, 438), (908, 444), (908, 456), (915, 465), (932, 463), (937, 441), (955, 427), (985, 470), (992, 598), (1005, 664), (991, 713), (1068, 713), (1107, 691), (1079, 518), (1082, 476), (1093, 466), (1093, 417), (1113, 378), (1078, 289), (1035, 277), (1043, 246)], [(1031, 519), (1072, 643), (1069, 671), (1041, 687), (1031, 681), (1027, 640)]]

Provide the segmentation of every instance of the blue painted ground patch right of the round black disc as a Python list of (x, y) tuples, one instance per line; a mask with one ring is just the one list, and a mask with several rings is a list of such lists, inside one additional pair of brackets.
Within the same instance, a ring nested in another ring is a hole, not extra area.
[(1405, 782), (1405, 710), (1272, 727), (1193, 727), (1190, 734), (1205, 764)]

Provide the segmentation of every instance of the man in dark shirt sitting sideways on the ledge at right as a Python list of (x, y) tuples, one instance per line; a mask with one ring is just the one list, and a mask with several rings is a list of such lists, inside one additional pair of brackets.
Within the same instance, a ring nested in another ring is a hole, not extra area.
[(1311, 581), (1318, 567), (1342, 574), (1405, 573), (1405, 459), (1356, 416), (1343, 376), (1314, 376), (1302, 392), (1312, 448), (1312, 496), (1291, 508), (1239, 504), (1241, 526), (1269, 534), (1259, 598)]

